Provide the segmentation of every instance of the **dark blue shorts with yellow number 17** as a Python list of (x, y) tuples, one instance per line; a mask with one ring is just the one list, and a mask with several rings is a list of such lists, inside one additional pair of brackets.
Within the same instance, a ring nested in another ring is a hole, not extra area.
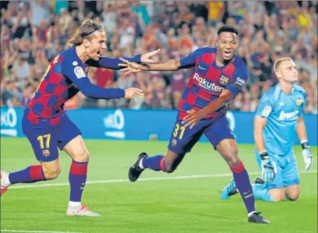
[(39, 119), (39, 124), (35, 125), (23, 115), (22, 132), (29, 139), (37, 160), (44, 162), (55, 160), (58, 158), (58, 148), (62, 151), (69, 141), (81, 134), (66, 113), (62, 113), (60, 118), (60, 122), (56, 125), (51, 125), (51, 121), (44, 118)]

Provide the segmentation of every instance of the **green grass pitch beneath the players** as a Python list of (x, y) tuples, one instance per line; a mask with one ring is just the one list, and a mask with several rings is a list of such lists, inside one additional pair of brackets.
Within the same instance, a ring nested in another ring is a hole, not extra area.
[[(317, 233), (317, 147), (311, 147), (312, 172), (303, 172), (301, 149), (295, 147), (301, 171), (300, 199), (256, 201), (271, 224), (253, 225), (247, 223), (239, 195), (221, 201), (220, 191), (232, 175), (210, 144), (194, 146), (173, 174), (147, 170), (140, 177), (143, 180), (135, 183), (127, 182), (127, 173), (138, 153), (165, 154), (166, 142), (86, 140), (86, 146), (91, 160), (83, 202), (102, 217), (65, 216), (71, 160), (60, 153), (58, 179), (16, 185), (1, 197), (1, 232)], [(251, 180), (260, 175), (253, 145), (239, 145), (239, 154)], [(27, 139), (1, 138), (1, 169), (11, 172), (34, 163), (37, 160)]]

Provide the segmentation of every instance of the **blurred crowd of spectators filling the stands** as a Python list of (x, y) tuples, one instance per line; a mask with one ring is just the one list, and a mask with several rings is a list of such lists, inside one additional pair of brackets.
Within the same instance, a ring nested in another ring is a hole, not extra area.
[[(161, 48), (155, 61), (215, 46), (223, 24), (239, 28), (237, 54), (249, 68), (244, 92), (228, 108), (256, 111), (277, 78), (272, 65), (292, 56), (307, 92), (306, 113), (317, 113), (317, 1), (1, 1), (1, 106), (25, 106), (48, 63), (65, 49), (84, 18), (100, 18), (107, 31), (103, 56), (133, 56)], [(192, 69), (124, 75), (90, 68), (100, 87), (140, 87), (140, 101), (96, 100), (79, 93), (66, 108), (178, 107)]]

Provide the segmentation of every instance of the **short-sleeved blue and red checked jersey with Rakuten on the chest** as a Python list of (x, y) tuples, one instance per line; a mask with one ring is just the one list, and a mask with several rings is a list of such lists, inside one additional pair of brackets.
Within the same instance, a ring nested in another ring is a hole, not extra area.
[[(192, 108), (199, 111), (208, 106), (208, 103), (216, 100), (224, 89), (237, 96), (248, 79), (246, 65), (239, 56), (235, 55), (232, 63), (218, 67), (216, 48), (212, 47), (197, 49), (180, 58), (180, 65), (182, 68), (195, 67), (178, 106), (180, 120)], [(207, 115), (206, 118), (220, 114), (226, 114), (225, 107)]]

